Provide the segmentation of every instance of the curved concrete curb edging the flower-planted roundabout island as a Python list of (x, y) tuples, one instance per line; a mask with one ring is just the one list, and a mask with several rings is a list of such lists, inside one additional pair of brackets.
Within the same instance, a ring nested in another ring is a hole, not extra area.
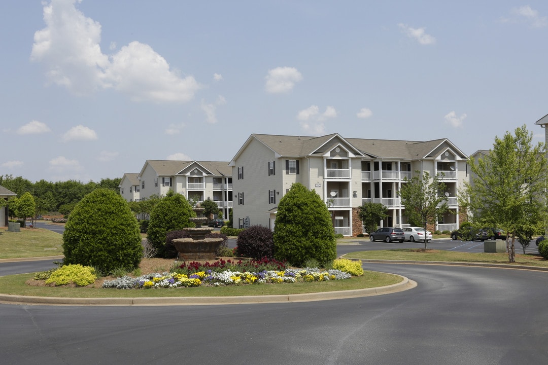
[(283, 294), (276, 296), (246, 296), (246, 297), (153, 297), (153, 298), (60, 298), (33, 297), (0, 294), (0, 303), (32, 304), (32, 305), (219, 305), (219, 304), (265, 304), (265, 303), (299, 303), (318, 300), (347, 299), (378, 296), (380, 294), (406, 291), (417, 286), (413, 280), (405, 276), (396, 284), (376, 288), (354, 289), (335, 292), (319, 292), (304, 294)]

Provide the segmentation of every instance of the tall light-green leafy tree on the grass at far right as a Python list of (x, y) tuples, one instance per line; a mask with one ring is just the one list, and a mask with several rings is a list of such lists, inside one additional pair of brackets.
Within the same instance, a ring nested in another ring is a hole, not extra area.
[(469, 160), (466, 205), (475, 221), (506, 231), (509, 262), (515, 262), (516, 237), (527, 240), (546, 222), (546, 144), (533, 145), (532, 139), (523, 125), (513, 135), (507, 131), (503, 138), (495, 137), (492, 150)]

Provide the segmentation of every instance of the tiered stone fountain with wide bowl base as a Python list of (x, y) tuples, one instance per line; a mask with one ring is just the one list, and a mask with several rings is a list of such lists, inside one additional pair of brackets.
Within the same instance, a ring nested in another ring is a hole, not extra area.
[(174, 239), (173, 246), (179, 252), (179, 260), (182, 261), (205, 261), (215, 260), (215, 251), (222, 243), (220, 237), (207, 237), (213, 228), (202, 227), (202, 224), (207, 221), (206, 217), (202, 216), (204, 208), (196, 207), (193, 209), (196, 212), (196, 217), (191, 217), (190, 221), (196, 224), (196, 228), (184, 228), (190, 238)]

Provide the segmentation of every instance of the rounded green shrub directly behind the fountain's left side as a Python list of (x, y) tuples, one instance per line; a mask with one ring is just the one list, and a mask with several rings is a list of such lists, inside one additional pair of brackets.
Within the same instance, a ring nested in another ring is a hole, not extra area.
[(162, 200), (156, 204), (150, 213), (149, 228), (147, 229), (147, 240), (155, 247), (158, 257), (169, 257), (170, 252), (166, 250), (165, 242), (169, 231), (181, 230), (183, 228), (195, 227), (190, 217), (196, 213), (184, 196), (169, 190)]

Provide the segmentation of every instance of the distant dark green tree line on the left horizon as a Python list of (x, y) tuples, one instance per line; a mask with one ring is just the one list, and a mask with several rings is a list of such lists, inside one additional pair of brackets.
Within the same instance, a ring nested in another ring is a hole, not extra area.
[(76, 180), (49, 182), (42, 179), (32, 183), (21, 176), (0, 175), (0, 186), (17, 194), (18, 199), (25, 193), (30, 193), (35, 202), (36, 215), (45, 215), (49, 212), (68, 215), (78, 201), (95, 189), (106, 188), (119, 194), (118, 185), (121, 180), (122, 178), (104, 178), (98, 183), (83, 183)]

